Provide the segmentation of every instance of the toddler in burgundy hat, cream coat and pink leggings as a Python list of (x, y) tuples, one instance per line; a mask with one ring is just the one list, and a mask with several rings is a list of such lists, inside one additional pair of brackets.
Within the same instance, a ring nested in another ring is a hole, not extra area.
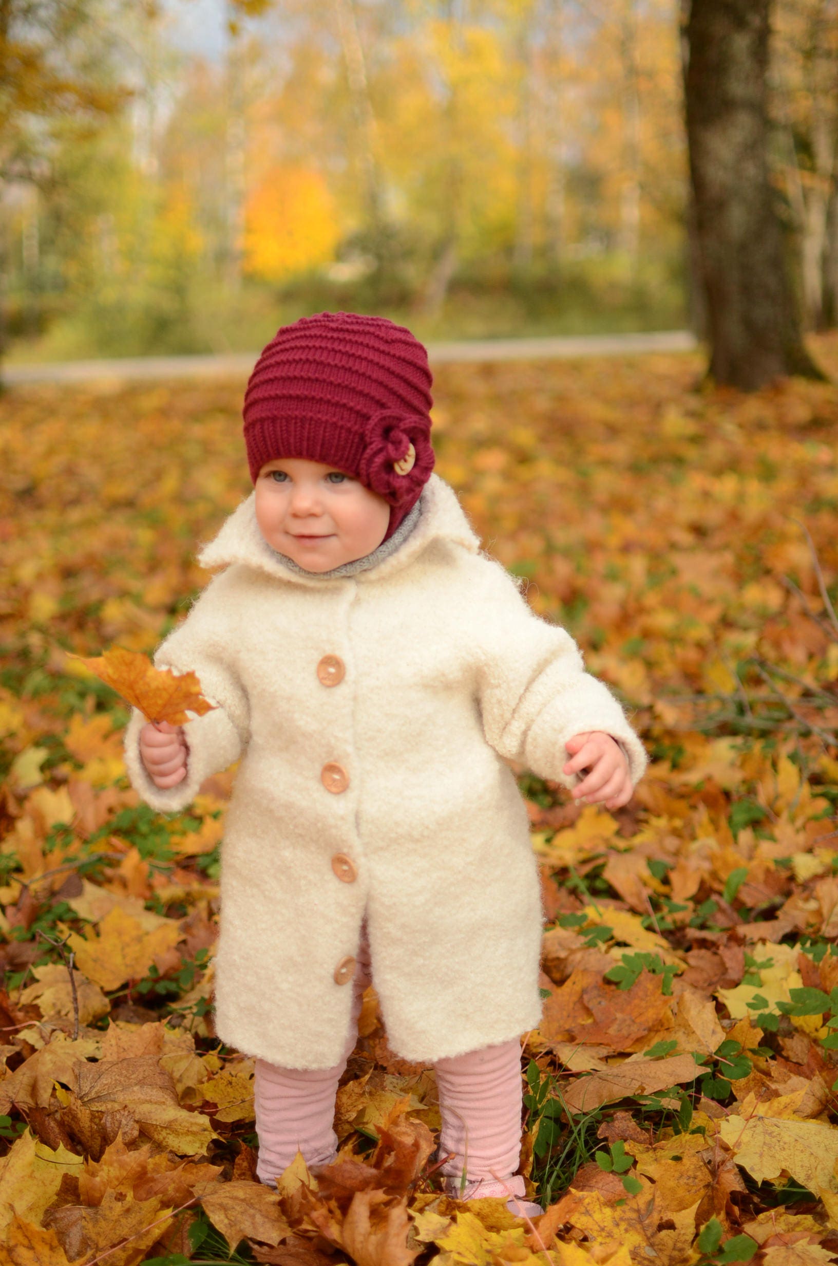
[(565, 629), (538, 618), (433, 475), (425, 348), (380, 316), (282, 327), (244, 396), (253, 491), (161, 643), (215, 709), (125, 734), (182, 810), (241, 758), (224, 829), (215, 1029), (256, 1060), (258, 1177), (335, 1155), (370, 979), (391, 1048), (433, 1063), (447, 1189), (520, 1200), (520, 1036), (542, 908), (506, 761), (625, 804), (646, 753)]

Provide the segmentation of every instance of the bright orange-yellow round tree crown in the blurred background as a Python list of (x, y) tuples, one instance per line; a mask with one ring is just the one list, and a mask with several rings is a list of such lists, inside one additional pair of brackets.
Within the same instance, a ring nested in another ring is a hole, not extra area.
[(244, 206), (244, 267), (266, 281), (328, 263), (339, 239), (334, 200), (310, 167), (271, 167)]

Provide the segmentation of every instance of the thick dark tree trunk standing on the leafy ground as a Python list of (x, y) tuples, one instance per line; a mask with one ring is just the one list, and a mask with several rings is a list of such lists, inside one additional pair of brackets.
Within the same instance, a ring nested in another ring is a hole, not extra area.
[(823, 379), (803, 342), (767, 157), (771, 0), (692, 0), (686, 125), (710, 376)]

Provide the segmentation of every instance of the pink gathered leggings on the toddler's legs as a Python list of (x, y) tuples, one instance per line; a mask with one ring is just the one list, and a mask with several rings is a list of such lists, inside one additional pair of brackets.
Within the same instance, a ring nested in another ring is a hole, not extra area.
[[(370, 950), (362, 929), (353, 980), (352, 1023), (338, 1063), (330, 1069), (281, 1069), (256, 1061), (257, 1177), (273, 1184), (297, 1152), (309, 1166), (332, 1161), (337, 1151), (334, 1099), (354, 1048), (363, 990), (370, 984)], [(468, 1199), (500, 1195), (504, 1188), (524, 1195), (524, 1179), (513, 1176), (520, 1153), (520, 1042), (503, 1042), (438, 1060), (437, 1087), (442, 1131), (439, 1156), (453, 1152), (441, 1172), (452, 1195)], [(465, 1182), (463, 1182), (465, 1175)]]

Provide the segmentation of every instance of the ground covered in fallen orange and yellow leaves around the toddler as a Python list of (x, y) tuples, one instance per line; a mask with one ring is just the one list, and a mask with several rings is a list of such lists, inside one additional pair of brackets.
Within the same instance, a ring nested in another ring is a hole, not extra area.
[(439, 472), (652, 756), (615, 814), (515, 771), (547, 915), (532, 1223), (441, 1194), (433, 1071), (372, 990), (338, 1162), (254, 1180), (253, 1061), (211, 1022), (235, 771), (153, 813), (77, 658), (151, 653), (206, 582), (199, 542), (251, 489), (242, 384), (0, 400), (0, 1266), (838, 1257), (838, 398), (699, 373), (437, 375)]

